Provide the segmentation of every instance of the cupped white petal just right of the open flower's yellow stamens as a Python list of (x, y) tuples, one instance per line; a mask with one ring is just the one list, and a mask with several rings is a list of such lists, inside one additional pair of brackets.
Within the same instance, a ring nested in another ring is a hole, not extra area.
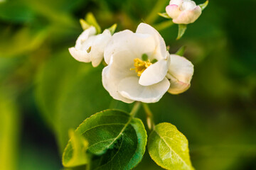
[(142, 86), (150, 86), (159, 83), (166, 77), (169, 69), (170, 57), (167, 59), (159, 60), (158, 62), (149, 66), (139, 77), (139, 84)]

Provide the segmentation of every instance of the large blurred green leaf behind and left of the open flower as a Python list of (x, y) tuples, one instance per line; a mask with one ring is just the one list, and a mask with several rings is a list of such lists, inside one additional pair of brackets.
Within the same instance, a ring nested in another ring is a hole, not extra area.
[(38, 106), (55, 132), (61, 153), (69, 140), (68, 130), (108, 108), (112, 101), (102, 86), (102, 66), (92, 68), (90, 63), (74, 60), (68, 47), (49, 56), (36, 80)]

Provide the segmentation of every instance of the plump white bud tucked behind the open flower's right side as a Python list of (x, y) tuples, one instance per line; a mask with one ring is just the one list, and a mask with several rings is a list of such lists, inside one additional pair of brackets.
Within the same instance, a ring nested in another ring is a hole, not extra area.
[(193, 64), (179, 55), (170, 55), (171, 63), (166, 77), (170, 81), (170, 94), (181, 94), (190, 87)]

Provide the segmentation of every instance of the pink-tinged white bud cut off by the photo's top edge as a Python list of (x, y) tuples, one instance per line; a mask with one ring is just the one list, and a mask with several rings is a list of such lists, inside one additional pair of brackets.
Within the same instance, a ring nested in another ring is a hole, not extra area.
[(191, 0), (171, 0), (166, 6), (166, 13), (173, 18), (174, 23), (188, 24), (198, 19), (202, 9)]

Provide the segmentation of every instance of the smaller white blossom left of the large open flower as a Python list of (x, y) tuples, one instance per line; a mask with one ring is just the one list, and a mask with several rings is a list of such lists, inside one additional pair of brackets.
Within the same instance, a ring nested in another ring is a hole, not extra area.
[(70, 47), (70, 54), (79, 62), (92, 62), (93, 67), (97, 67), (103, 59), (103, 54), (107, 43), (112, 37), (110, 30), (104, 30), (102, 34), (96, 35), (94, 26), (87, 28), (79, 35), (75, 42), (75, 47)]

